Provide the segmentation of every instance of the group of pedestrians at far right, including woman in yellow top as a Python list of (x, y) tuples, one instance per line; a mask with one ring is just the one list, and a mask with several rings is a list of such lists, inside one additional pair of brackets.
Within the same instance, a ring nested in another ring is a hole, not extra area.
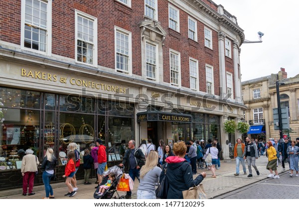
[[(238, 138), (234, 147), (234, 158), (236, 159), (236, 173), (234, 175), (240, 175), (240, 162), (242, 164), (244, 174), (247, 175), (244, 162), (246, 159), (249, 171), (249, 175), (247, 177), (253, 177), (251, 166), (255, 169), (259, 176), (260, 172), (255, 165), (255, 161), (261, 156), (261, 154), (268, 157), (268, 164), (266, 168), (270, 171), (270, 174), (268, 175), (269, 178), (280, 178), (277, 171), (279, 163), (282, 163), (283, 171), (286, 170), (286, 163), (289, 164), (290, 177), (293, 177), (294, 175), (296, 177), (299, 176), (299, 137), (296, 138), (296, 141), (290, 140), (286, 137), (281, 141), (270, 138), (267, 142), (262, 140), (258, 142), (257, 139), (247, 137), (246, 144), (242, 143), (242, 139)], [(273, 174), (273, 171), (275, 175)], [(294, 172), (296, 172), (296, 174)]]

